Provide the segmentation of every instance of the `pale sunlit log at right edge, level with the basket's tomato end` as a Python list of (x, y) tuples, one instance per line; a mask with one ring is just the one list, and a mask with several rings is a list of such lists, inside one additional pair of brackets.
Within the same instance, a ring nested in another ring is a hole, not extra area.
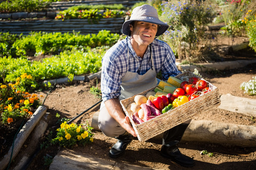
[(241, 113), (256, 118), (256, 99), (237, 97), (230, 93), (220, 96), (219, 109)]

